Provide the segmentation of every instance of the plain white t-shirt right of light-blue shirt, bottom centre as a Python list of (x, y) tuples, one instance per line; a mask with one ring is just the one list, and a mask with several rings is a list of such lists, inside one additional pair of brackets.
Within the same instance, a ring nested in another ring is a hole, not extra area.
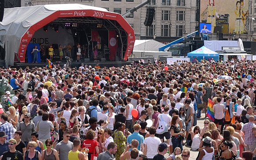
[(147, 145), (147, 158), (154, 158), (158, 154), (158, 145), (162, 143), (158, 137), (147, 137), (144, 140), (144, 144)]

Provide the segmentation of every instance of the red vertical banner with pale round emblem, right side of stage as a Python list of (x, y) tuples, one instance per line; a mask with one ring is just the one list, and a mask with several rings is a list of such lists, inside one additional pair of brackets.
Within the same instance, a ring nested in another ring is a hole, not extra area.
[(114, 61), (117, 54), (117, 35), (115, 31), (109, 31), (109, 60)]

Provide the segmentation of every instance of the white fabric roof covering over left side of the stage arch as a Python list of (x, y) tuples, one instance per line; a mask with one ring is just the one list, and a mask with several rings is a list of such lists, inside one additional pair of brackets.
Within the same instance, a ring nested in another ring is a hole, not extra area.
[(4, 19), (3, 22), (0, 22), (0, 45), (4, 47), (5, 44), (6, 65), (13, 65), (14, 54), (18, 53), (21, 38), (32, 25), (47, 18), (56, 11), (63, 10), (97, 10), (108, 12), (104, 8), (82, 4), (49, 4), (4, 9)]

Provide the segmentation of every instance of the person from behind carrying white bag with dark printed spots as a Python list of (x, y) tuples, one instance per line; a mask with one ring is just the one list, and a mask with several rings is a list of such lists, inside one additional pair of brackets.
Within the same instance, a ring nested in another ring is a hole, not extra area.
[(169, 133), (169, 128), (171, 126), (171, 121), (172, 121), (172, 117), (169, 115), (168, 112), (169, 112), (169, 106), (165, 106), (164, 113), (158, 115), (158, 122), (156, 124), (156, 128), (157, 128), (156, 133), (159, 136), (158, 138), (160, 138), (161, 141), (163, 142), (164, 137), (166, 137), (167, 144), (169, 144), (170, 138), (171, 138)]

